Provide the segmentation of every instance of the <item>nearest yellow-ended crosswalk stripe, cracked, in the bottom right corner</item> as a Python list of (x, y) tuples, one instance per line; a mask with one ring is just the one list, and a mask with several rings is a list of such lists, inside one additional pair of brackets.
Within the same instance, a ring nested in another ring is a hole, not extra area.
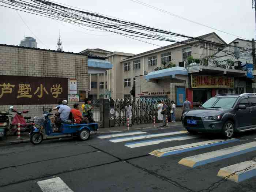
[(219, 169), (217, 174), (219, 177), (225, 177), (228, 180), (241, 182), (248, 178), (256, 176), (256, 162), (255, 161), (245, 161), (223, 167)]

